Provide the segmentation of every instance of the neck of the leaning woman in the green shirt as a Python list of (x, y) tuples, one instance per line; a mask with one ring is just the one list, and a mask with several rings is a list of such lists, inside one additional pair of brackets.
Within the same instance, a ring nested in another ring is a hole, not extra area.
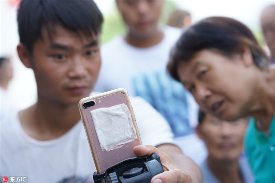
[(269, 127), (275, 115), (275, 69), (265, 73), (264, 81), (259, 81), (255, 92), (255, 101), (247, 116), (255, 117), (257, 128), (269, 134)]

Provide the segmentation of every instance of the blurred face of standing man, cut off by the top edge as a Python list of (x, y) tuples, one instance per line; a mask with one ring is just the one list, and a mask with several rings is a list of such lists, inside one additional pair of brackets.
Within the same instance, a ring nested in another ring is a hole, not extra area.
[(155, 33), (163, 0), (117, 0), (116, 4), (131, 33), (140, 36)]

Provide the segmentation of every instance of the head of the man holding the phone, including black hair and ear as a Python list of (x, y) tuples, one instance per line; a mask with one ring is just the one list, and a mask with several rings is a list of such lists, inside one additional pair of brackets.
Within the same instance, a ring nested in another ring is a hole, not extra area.
[(34, 70), (38, 99), (77, 104), (89, 95), (101, 65), (103, 17), (93, 1), (21, 1), (22, 63)]

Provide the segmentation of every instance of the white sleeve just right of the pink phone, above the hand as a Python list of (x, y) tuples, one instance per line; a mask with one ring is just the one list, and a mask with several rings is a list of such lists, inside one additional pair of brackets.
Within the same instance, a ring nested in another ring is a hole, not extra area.
[(130, 98), (143, 145), (175, 144), (174, 134), (165, 118), (141, 97)]

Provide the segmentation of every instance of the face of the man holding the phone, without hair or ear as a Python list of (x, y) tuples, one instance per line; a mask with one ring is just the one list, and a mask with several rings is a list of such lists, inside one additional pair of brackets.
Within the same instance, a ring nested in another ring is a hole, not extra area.
[(52, 41), (46, 28), (43, 41), (33, 45), (31, 68), (38, 96), (65, 105), (87, 97), (97, 81), (101, 66), (99, 36), (87, 38), (61, 26), (55, 27)]

